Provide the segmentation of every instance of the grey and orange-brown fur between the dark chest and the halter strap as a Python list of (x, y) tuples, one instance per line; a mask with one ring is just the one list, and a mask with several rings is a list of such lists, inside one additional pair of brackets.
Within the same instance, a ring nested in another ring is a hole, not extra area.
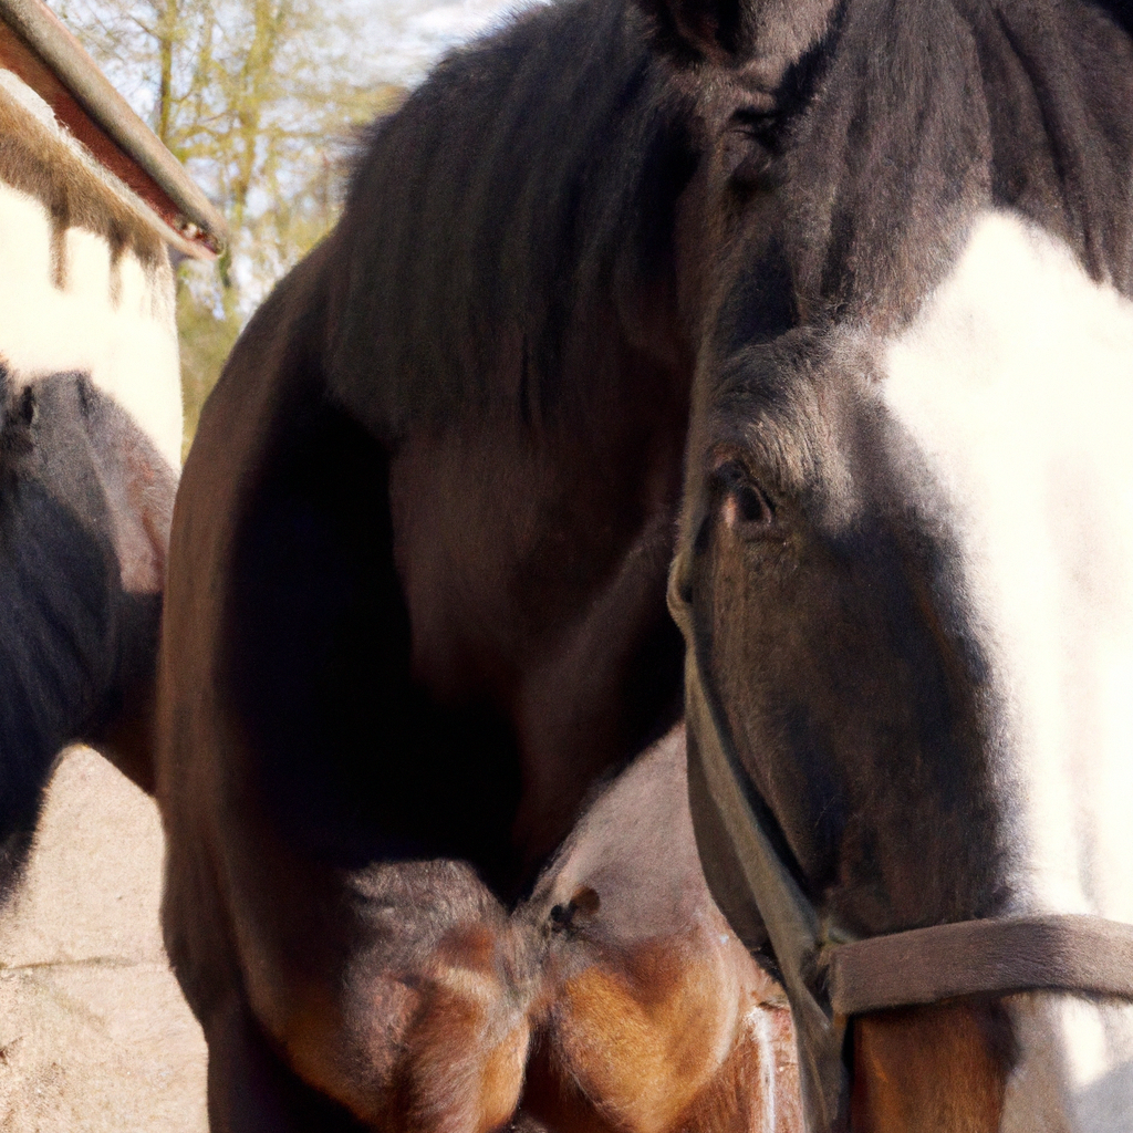
[(548, 1128), (799, 1128), (785, 999), (708, 894), (683, 739), (622, 773), (517, 912), (543, 940), (523, 1108)]

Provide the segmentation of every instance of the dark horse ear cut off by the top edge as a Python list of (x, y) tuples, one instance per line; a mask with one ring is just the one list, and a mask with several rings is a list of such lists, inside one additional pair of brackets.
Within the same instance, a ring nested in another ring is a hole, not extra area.
[[(785, 69), (829, 25), (833, 0), (638, 0), (654, 42), (679, 62)], [(777, 67), (775, 66), (777, 65)]]

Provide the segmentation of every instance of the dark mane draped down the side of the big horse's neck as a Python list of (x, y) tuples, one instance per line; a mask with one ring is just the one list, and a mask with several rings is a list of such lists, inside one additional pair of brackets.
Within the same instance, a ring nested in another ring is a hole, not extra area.
[(665, 286), (693, 168), (675, 118), (619, 0), (529, 11), (449, 56), (357, 161), (332, 386), (386, 440), (454, 404), (546, 421), (570, 359), (617, 349), (638, 297)]

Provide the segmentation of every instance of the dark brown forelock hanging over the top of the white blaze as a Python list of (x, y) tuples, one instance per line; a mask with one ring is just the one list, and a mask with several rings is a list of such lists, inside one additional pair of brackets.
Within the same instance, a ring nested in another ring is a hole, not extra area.
[(847, 5), (794, 127), (803, 304), (900, 324), (989, 206), (1130, 293), (1131, 85), (1128, 39), (1076, 0)]

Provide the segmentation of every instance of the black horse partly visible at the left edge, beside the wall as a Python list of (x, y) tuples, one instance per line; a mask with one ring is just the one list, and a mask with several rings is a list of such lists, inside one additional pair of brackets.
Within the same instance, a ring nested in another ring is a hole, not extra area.
[(0, 896), (68, 743), (152, 790), (177, 474), (87, 375), (0, 368)]

